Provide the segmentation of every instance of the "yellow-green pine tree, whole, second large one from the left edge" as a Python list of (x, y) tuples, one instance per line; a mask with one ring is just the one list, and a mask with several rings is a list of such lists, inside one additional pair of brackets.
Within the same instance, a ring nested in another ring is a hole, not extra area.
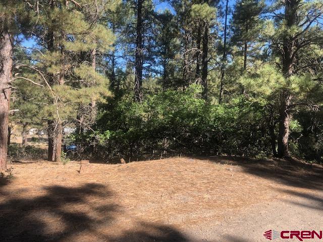
[(61, 160), (63, 127), (74, 122), (76, 107), (93, 109), (98, 98), (109, 94), (107, 79), (96, 72), (97, 53), (109, 49), (113, 42), (111, 31), (97, 23), (99, 8), (104, 6), (98, 7), (93, 1), (81, 4), (55, 0), (41, 3), (41, 17), (33, 31), (42, 51), (35, 55), (33, 69), (50, 94), (44, 109), (51, 161)]

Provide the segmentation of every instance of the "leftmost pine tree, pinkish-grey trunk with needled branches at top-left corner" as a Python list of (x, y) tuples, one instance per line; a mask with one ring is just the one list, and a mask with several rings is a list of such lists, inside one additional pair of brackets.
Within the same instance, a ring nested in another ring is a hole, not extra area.
[(8, 115), (10, 109), (13, 44), (15, 37), (28, 33), (33, 15), (27, 3), (5, 0), (0, 3), (0, 170), (7, 168)]

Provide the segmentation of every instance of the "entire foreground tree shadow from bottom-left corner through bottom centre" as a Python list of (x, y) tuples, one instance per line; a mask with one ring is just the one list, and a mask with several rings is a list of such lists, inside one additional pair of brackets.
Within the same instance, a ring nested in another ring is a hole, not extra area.
[[(3, 183), (0, 191), (5, 186), (10, 184)], [(111, 226), (122, 208), (109, 202), (114, 194), (100, 184), (50, 186), (38, 192), (38, 196), (1, 193), (1, 241), (197, 242), (174, 227), (147, 222), (114, 235)]]

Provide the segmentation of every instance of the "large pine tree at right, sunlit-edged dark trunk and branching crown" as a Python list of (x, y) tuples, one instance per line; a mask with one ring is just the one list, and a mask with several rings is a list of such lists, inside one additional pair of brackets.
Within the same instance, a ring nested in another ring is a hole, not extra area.
[[(319, 51), (311, 49), (317, 48), (322, 39), (319, 26), (322, 25), (323, 4), (320, 1), (277, 1), (270, 10), (275, 15), (274, 21), (277, 26), (271, 42), (276, 55), (280, 58), (279, 66), (286, 79), (286, 85), (281, 88), (279, 94), (278, 156), (283, 157), (289, 156), (291, 109), (298, 105), (291, 86), (295, 84), (295, 75), (306, 73), (313, 66), (317, 66), (311, 59), (319, 57)], [(306, 102), (304, 105), (310, 103)]]

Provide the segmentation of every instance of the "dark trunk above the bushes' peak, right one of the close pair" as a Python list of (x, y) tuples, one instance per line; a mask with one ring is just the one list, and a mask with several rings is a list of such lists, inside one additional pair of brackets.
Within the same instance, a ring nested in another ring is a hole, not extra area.
[(203, 50), (202, 50), (202, 97), (207, 99), (207, 72), (208, 72), (208, 23), (204, 23)]

